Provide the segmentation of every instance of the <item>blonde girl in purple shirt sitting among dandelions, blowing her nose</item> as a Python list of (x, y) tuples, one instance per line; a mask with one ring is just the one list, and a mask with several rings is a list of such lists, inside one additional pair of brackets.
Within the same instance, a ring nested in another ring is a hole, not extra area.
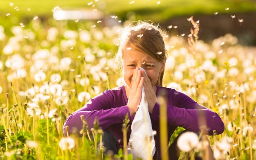
[[(163, 33), (153, 24), (137, 22), (124, 27), (120, 34), (120, 44), (116, 58), (123, 70), (125, 85), (113, 90), (106, 90), (91, 99), (84, 107), (72, 113), (65, 121), (63, 132), (67, 135), (65, 126), (79, 132), (83, 123), (80, 116), (84, 115), (88, 129), (94, 126), (98, 117), (99, 126), (104, 130), (103, 143), (106, 150), (117, 154), (118, 148), (123, 147), (122, 123), (129, 114), (131, 126), (133, 118), (141, 101), (142, 86), (144, 86), (148, 111), (150, 113), (152, 129), (159, 133), (159, 103), (157, 97), (165, 93), (167, 101), (168, 140), (180, 126), (189, 131), (200, 132), (202, 125), (199, 115), (204, 115), (204, 134), (221, 134), (224, 123), (217, 113), (198, 104), (186, 94), (175, 89), (162, 87), (165, 71), (167, 50), (163, 40)], [(146, 74), (139, 69), (143, 68)], [(128, 129), (128, 137), (130, 135)], [(119, 141), (118, 141), (119, 140)], [(161, 159), (160, 137), (154, 135), (156, 152), (153, 159)], [(168, 142), (166, 142), (168, 144)], [(176, 152), (178, 152), (176, 154)], [(169, 147), (170, 159), (178, 159), (179, 151), (176, 140)], [(177, 156), (176, 156), (177, 155)]]

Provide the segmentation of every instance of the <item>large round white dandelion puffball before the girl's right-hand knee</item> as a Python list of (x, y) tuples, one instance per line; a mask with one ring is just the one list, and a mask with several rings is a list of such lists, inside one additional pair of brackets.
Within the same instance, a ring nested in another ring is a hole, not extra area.
[(185, 152), (188, 152), (191, 149), (196, 148), (198, 143), (198, 135), (194, 132), (183, 133), (177, 141), (177, 145), (180, 148), (180, 150), (183, 150)]

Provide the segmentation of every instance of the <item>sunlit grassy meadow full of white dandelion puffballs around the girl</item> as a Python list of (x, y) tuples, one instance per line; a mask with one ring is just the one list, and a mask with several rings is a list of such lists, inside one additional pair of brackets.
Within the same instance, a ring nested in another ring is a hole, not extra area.
[[(19, 2), (13, 3), (12, 9)], [(124, 84), (114, 59), (119, 27), (104, 27), (97, 20), (42, 20), (33, 14), (20, 23), (13, 17), (17, 13), (10, 13), (1, 17), (9, 23), (0, 25), (0, 159), (114, 159), (102, 154), (103, 147), (97, 149), (86, 125), (81, 138), (64, 137), (62, 126), (90, 98)], [(166, 34), (163, 84), (221, 116), (224, 133), (208, 137), (216, 159), (256, 160), (256, 54), (231, 34), (211, 43), (198, 40), (200, 22), (188, 23), (191, 34)], [(100, 141), (97, 125), (93, 134)], [(201, 150), (199, 144), (194, 149)], [(122, 150), (114, 157), (132, 159)]]

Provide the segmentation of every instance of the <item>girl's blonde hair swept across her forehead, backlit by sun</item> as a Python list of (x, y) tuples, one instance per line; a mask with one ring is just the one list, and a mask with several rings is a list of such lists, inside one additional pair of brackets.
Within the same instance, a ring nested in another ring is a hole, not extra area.
[[(119, 67), (122, 66), (123, 54), (129, 45), (133, 45), (142, 52), (148, 54), (158, 62), (162, 62), (166, 55), (165, 32), (159, 25), (148, 21), (135, 21), (124, 26), (119, 33), (120, 43), (115, 55)], [(165, 69), (159, 73), (157, 85), (162, 86), (162, 79)]]

